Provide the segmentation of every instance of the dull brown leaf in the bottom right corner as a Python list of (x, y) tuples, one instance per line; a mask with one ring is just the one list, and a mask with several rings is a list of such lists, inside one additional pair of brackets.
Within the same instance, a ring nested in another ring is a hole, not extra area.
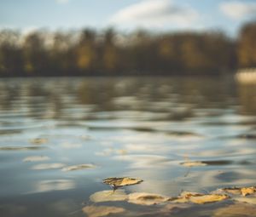
[(256, 216), (256, 207), (247, 203), (235, 203), (228, 207), (218, 208), (213, 214), (214, 217), (252, 217)]

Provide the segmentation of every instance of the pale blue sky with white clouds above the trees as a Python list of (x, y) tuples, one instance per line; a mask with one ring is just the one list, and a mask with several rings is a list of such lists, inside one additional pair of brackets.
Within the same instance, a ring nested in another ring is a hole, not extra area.
[(256, 0), (1, 0), (0, 29), (222, 30), (256, 20)]

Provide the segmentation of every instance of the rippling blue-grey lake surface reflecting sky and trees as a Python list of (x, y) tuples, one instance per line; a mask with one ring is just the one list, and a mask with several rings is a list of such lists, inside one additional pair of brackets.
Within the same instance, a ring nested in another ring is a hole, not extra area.
[[(143, 180), (126, 193), (167, 197), (255, 186), (255, 86), (232, 77), (2, 78), (0, 215), (86, 216), (82, 208), (98, 205), (90, 195), (111, 190), (108, 177)], [(181, 164), (194, 161), (207, 166)], [(79, 164), (91, 168), (68, 171)], [(160, 215), (215, 216), (231, 203)], [(162, 208), (99, 205), (127, 210), (113, 216)]]

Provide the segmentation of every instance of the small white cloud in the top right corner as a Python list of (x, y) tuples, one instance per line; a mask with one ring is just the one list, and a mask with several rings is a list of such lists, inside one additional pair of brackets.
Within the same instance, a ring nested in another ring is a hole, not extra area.
[(255, 16), (256, 3), (242, 3), (239, 1), (221, 3), (219, 9), (233, 20), (241, 20)]

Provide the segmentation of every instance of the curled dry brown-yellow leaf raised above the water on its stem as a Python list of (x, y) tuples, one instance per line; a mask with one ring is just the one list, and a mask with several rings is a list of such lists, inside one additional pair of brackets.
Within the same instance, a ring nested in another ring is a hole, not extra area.
[(129, 177), (124, 177), (124, 178), (107, 178), (103, 180), (103, 183), (113, 186), (114, 188), (117, 187), (122, 187), (122, 186), (131, 186), (131, 185), (136, 185), (143, 182), (143, 180), (139, 179), (134, 179), (134, 178), (129, 178)]

